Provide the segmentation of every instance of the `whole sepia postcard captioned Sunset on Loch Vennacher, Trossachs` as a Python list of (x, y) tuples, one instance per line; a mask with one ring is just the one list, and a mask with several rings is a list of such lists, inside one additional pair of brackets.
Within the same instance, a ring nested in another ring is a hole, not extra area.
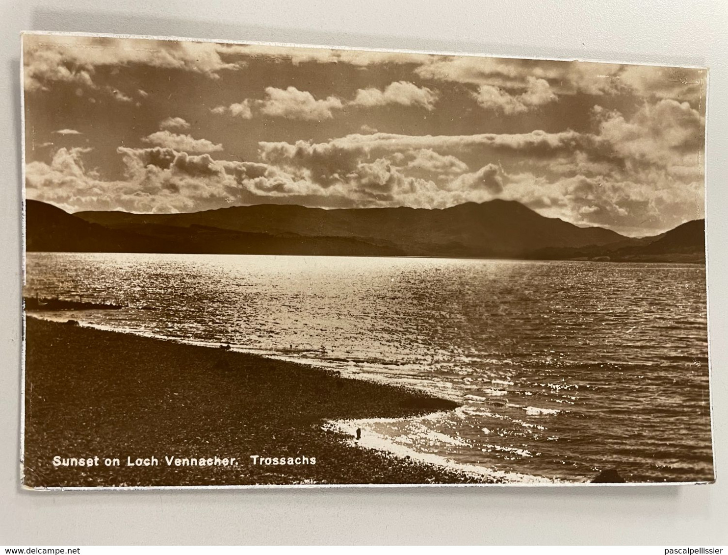
[(23, 486), (713, 482), (707, 79), (23, 33)]

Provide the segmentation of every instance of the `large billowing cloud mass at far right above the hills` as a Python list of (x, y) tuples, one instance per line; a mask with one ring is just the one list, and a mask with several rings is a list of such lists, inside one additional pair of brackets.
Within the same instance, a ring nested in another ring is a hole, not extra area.
[(596, 107), (582, 148), (523, 161), (502, 197), (542, 215), (633, 236), (704, 217), (705, 121), (689, 103), (644, 103), (631, 116)]

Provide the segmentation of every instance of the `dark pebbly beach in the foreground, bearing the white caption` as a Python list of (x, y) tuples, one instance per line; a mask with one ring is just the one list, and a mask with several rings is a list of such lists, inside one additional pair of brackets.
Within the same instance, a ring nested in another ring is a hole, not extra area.
[[(456, 407), (304, 364), (29, 317), (24, 484), (28, 487), (432, 484), (483, 478), (398, 458), (325, 431), (327, 420)], [(54, 466), (53, 458), (98, 466)], [(253, 464), (262, 458), (309, 464)], [(172, 466), (170, 458), (235, 458)], [(119, 466), (105, 466), (117, 458)], [(156, 458), (156, 466), (127, 466)], [(316, 459), (315, 464), (310, 460)]]

